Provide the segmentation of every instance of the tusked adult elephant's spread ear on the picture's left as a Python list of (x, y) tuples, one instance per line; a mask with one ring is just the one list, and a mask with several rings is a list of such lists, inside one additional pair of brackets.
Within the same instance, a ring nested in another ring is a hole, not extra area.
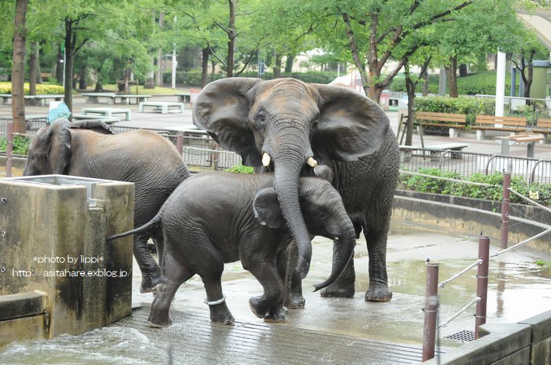
[(260, 78), (224, 78), (204, 87), (194, 102), (195, 126), (205, 129), (222, 147), (241, 155), (245, 166), (261, 166), (253, 131), (249, 127), (247, 93)]

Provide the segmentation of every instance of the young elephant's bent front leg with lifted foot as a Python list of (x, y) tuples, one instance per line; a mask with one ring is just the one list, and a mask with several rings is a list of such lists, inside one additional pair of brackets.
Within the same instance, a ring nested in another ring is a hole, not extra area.
[[(264, 288), (264, 294), (249, 299), (249, 307), (258, 318), (264, 318), (271, 307), (284, 300), (284, 281), (271, 261), (245, 263), (243, 267), (253, 274)], [(285, 268), (287, 269), (287, 268)]]

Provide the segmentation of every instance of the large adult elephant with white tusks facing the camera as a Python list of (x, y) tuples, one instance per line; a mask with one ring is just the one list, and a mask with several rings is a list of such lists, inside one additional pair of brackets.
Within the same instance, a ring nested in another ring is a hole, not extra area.
[[(386, 241), (395, 191), (399, 149), (389, 120), (365, 96), (344, 87), (306, 84), (293, 78), (226, 78), (202, 89), (194, 124), (243, 164), (275, 170), (274, 188), (298, 246), (291, 307), (304, 305), (300, 279), (306, 276), (311, 242), (300, 212), (298, 179), (316, 164), (333, 171), (357, 236), (364, 231), (369, 254), (365, 299), (388, 301)], [(353, 261), (324, 296), (354, 295)]]

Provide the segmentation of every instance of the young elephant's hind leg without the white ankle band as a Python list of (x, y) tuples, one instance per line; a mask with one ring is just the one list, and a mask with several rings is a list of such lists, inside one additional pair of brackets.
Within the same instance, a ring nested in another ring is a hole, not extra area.
[(163, 278), (155, 292), (155, 299), (147, 320), (151, 327), (163, 327), (172, 323), (169, 309), (174, 294), (176, 294), (176, 290), (182, 283), (195, 274), (176, 261), (176, 258), (169, 253), (165, 254), (163, 262)]

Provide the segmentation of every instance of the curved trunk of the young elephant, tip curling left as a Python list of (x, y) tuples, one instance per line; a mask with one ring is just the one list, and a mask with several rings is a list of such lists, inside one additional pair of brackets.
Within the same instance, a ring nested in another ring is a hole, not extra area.
[(342, 234), (336, 237), (339, 244), (339, 249), (335, 252), (335, 258), (333, 258), (334, 265), (331, 275), (323, 283), (314, 285), (314, 291), (318, 291), (324, 287), (329, 287), (329, 285), (333, 284), (335, 280), (339, 278), (340, 274), (342, 274), (354, 254), (354, 247), (356, 245), (354, 225), (352, 224), (348, 214), (344, 212), (344, 207), (342, 207), (342, 209), (343, 213), (341, 213), (339, 217), (339, 227)]

